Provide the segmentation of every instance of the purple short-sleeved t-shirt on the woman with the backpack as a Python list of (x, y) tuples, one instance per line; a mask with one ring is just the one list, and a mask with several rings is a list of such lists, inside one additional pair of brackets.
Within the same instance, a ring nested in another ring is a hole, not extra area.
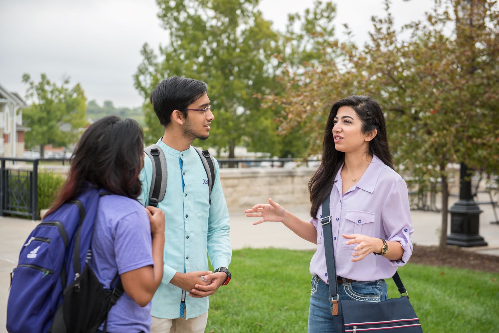
[[(124, 196), (101, 197), (91, 248), (90, 267), (106, 289), (116, 272), (153, 265), (151, 224), (144, 206)], [(123, 293), (109, 312), (107, 332), (141, 331), (151, 332), (151, 303), (142, 308)]]

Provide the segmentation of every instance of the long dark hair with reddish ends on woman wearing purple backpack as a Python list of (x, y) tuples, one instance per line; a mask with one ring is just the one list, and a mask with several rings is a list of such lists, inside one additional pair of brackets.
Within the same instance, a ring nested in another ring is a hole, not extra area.
[(143, 150), (142, 129), (133, 119), (107, 116), (90, 125), (78, 141), (67, 180), (47, 215), (76, 198), (86, 184), (137, 198)]

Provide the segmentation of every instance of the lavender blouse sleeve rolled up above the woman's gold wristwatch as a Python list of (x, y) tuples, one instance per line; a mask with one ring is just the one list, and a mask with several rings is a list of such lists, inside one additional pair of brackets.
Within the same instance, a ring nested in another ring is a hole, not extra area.
[(397, 241), (402, 245), (404, 254), (401, 260), (391, 260), (392, 266), (404, 266), (412, 255), (412, 233), (409, 196), (407, 185), (401, 177), (397, 178), (386, 197), (382, 209), (383, 228), (388, 241)]

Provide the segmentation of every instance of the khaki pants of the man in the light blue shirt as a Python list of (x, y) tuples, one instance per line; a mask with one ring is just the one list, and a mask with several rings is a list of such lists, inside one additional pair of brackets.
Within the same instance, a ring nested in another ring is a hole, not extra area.
[(163, 319), (152, 316), (151, 333), (203, 333), (208, 321), (208, 312), (196, 318), (186, 320), (184, 318)]

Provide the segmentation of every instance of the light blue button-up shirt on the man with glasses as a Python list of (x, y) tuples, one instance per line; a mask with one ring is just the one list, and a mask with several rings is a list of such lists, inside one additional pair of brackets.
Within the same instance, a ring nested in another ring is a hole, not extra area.
[[(182, 289), (170, 283), (177, 272), (208, 270), (206, 251), (214, 268), (229, 267), (232, 256), (229, 238), (229, 211), (220, 183), (219, 166), (215, 163), (215, 181), (211, 205), (206, 170), (191, 146), (179, 152), (161, 139), (157, 145), (165, 153), (168, 180), (165, 197), (158, 208), (165, 212), (165, 251), (163, 280), (154, 294), (151, 314), (154, 317), (180, 317)], [(182, 160), (182, 166), (180, 164)], [(148, 205), (152, 179), (152, 161), (144, 157), (140, 173), (142, 194), (139, 200)], [(182, 185), (184, 180), (184, 186)], [(208, 311), (208, 297), (186, 297), (186, 319)]]

